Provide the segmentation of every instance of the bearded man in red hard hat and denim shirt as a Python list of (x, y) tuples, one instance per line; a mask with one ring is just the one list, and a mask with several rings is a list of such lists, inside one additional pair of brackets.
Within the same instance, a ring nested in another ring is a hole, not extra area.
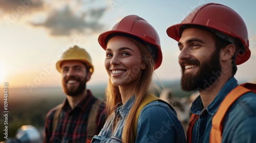
[(166, 32), (178, 41), (181, 89), (200, 93), (191, 104), (187, 142), (255, 142), (256, 84), (234, 78), (251, 54), (242, 17), (203, 4)]

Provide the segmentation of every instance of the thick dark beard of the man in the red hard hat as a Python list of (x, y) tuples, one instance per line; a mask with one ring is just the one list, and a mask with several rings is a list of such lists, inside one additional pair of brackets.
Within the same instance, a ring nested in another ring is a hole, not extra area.
[(194, 63), (200, 67), (197, 73), (185, 74), (184, 65), (182, 65), (181, 89), (184, 91), (201, 91), (216, 83), (222, 73), (219, 57), (219, 51), (216, 50), (208, 62), (199, 65), (199, 61), (195, 60)]

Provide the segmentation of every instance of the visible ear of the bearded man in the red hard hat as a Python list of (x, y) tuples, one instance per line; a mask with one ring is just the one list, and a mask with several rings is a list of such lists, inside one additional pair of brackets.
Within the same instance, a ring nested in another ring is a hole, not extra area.
[(221, 49), (220, 52), (220, 60), (221, 61), (228, 61), (231, 60), (232, 56), (236, 52), (236, 47), (234, 47), (233, 44), (229, 44), (223, 49)]

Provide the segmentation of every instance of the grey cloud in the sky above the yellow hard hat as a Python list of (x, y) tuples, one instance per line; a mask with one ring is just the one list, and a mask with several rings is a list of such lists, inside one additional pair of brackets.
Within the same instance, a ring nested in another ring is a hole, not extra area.
[(105, 8), (91, 9), (76, 15), (69, 6), (64, 10), (53, 10), (44, 22), (31, 23), (35, 27), (45, 27), (52, 36), (69, 36), (72, 31), (84, 32), (86, 29), (93, 32), (100, 30), (103, 25), (98, 22)]

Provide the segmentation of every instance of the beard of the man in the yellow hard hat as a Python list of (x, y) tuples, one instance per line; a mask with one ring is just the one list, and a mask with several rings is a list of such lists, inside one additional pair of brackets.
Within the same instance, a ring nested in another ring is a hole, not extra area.
[[(78, 87), (68, 88), (66, 81), (68, 81), (69, 79), (77, 80), (77, 82), (79, 82)], [(86, 89), (86, 77), (84, 77), (84, 79), (80, 79), (77, 76), (70, 76), (69, 78), (65, 77), (62, 80), (62, 87), (67, 95), (75, 97)]]

